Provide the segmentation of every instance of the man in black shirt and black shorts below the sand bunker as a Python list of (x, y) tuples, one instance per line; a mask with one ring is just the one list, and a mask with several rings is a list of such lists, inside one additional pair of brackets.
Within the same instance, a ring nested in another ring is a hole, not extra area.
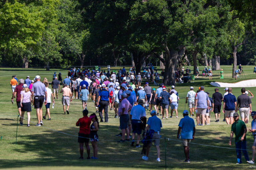
[(213, 112), (215, 114), (216, 121), (219, 122), (220, 119), (220, 109), (221, 109), (221, 102), (223, 101), (222, 94), (219, 93), (219, 89), (214, 89), (215, 93), (212, 94), (212, 100), (214, 103)]

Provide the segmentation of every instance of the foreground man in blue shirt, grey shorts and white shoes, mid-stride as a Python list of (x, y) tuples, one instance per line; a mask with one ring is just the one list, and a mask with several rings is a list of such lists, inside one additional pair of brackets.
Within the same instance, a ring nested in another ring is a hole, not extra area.
[[(162, 122), (159, 118), (156, 117), (156, 111), (151, 111), (151, 117), (148, 118), (148, 126), (147, 126), (147, 130), (154, 130), (154, 134), (151, 140), (151, 143), (148, 144), (147, 147), (147, 152), (146, 152), (146, 156), (142, 156), (142, 159), (145, 161), (148, 161), (148, 154), (149, 154), (149, 150), (150, 150), (150, 146), (152, 145), (152, 142), (154, 142), (154, 145), (156, 146), (156, 152), (157, 152), (157, 162), (160, 162), (160, 147), (159, 147), (159, 143), (160, 143), (160, 130), (162, 128)], [(145, 134), (146, 136), (146, 134)]]

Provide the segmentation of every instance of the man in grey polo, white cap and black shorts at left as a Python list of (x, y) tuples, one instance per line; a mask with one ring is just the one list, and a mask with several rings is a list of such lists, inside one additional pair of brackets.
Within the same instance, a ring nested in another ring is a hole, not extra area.
[(45, 98), (47, 99), (47, 90), (45, 88), (45, 85), (40, 81), (40, 76), (36, 76), (36, 82), (33, 84), (32, 89), (31, 89), (31, 94), (32, 96), (34, 95), (34, 108), (36, 109), (36, 116), (38, 123), (35, 126), (41, 126), (43, 125), (42, 122), (42, 106), (43, 103), (44, 105), (47, 104), (47, 101), (44, 101), (44, 95)]

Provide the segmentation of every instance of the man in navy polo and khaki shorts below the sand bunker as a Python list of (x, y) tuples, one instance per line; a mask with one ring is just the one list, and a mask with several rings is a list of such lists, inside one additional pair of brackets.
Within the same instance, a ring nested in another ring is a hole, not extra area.
[[(224, 96), (223, 99), (223, 109), (222, 113), (225, 115), (226, 123), (233, 124), (233, 115), (236, 109), (236, 97), (232, 95), (232, 88), (228, 88), (228, 94)], [(224, 112), (225, 110), (225, 112)]]

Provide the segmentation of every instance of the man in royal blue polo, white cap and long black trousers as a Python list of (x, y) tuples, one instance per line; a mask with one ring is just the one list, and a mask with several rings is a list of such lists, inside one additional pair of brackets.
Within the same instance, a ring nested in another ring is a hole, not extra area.
[(99, 115), (100, 115), (100, 122), (103, 122), (103, 117), (102, 117), (102, 110), (104, 109), (104, 117), (105, 117), (105, 122), (108, 122), (108, 104), (110, 103), (109, 101), (109, 93), (108, 90), (106, 90), (106, 85), (102, 84), (101, 85), (102, 89), (98, 93), (98, 99), (97, 99), (97, 106), (99, 106)]

